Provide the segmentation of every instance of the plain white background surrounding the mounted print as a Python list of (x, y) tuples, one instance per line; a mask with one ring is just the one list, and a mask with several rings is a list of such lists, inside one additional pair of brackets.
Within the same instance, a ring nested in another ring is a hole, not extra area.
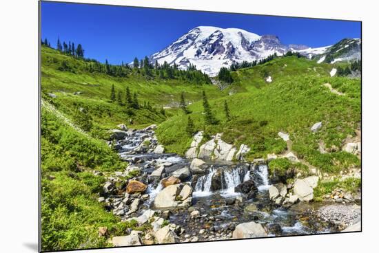
[[(378, 16), (375, 1), (76, 0), (363, 21), (363, 232), (89, 252), (358, 252), (377, 238)], [(37, 1), (1, 1), (1, 252), (37, 252)], [(127, 27), (127, 26), (125, 26)], [(326, 31), (330, 32), (330, 31)], [(4, 57), (5, 56), (5, 57)], [(78, 251), (88, 252), (88, 251)]]

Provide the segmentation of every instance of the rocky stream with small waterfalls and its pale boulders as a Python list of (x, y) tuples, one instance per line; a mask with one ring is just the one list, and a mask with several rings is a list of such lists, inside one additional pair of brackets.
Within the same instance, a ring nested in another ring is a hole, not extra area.
[[(201, 148), (198, 133), (186, 157), (181, 157), (164, 153), (155, 125), (141, 130), (119, 127), (112, 131), (110, 145), (129, 166), (107, 177), (99, 201), (123, 221), (134, 220), (145, 229), (113, 237), (113, 245), (321, 234), (360, 222), (358, 197), (337, 192), (340, 197), (312, 201), (317, 176), (273, 184), (265, 161), (244, 161), (246, 146), (237, 152), (224, 144), (227, 152), (213, 151), (224, 159), (210, 159), (205, 143), (199, 159), (194, 155)], [(228, 158), (231, 151), (238, 162)], [(105, 232), (106, 228), (99, 228), (99, 235)]]

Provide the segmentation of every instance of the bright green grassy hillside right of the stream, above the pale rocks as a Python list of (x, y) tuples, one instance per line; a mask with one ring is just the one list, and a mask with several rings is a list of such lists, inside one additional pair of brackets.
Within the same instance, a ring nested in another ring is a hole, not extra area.
[[(249, 145), (251, 159), (285, 151), (287, 144), (278, 137), (279, 131), (285, 131), (290, 134), (298, 157), (317, 168), (338, 172), (358, 166), (356, 156), (340, 150), (345, 138), (354, 135), (360, 124), (360, 79), (330, 78), (331, 68), (291, 56), (240, 69), (232, 73), (234, 83), (227, 88), (234, 91), (231, 96), (208, 96), (219, 124), (205, 125), (201, 102), (189, 106), (190, 116), (196, 130), (203, 130), (208, 136), (224, 133), (223, 139), (229, 143)], [(272, 76), (272, 83), (267, 83), (265, 76)], [(345, 96), (331, 93), (325, 83)], [(230, 121), (223, 111), (225, 100), (232, 115)], [(322, 129), (312, 133), (311, 126), (320, 121)], [(158, 138), (169, 151), (187, 150), (191, 136), (185, 131), (186, 125), (187, 115), (179, 114), (159, 126)], [(321, 142), (335, 152), (320, 153)]]

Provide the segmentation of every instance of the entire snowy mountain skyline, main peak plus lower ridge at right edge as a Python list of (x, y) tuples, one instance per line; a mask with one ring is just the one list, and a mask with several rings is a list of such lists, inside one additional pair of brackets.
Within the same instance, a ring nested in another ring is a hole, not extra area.
[(152, 54), (150, 61), (176, 63), (179, 69), (189, 64), (209, 76), (216, 76), (221, 67), (232, 63), (257, 61), (274, 53), (299, 52), (318, 63), (360, 59), (360, 39), (344, 39), (335, 45), (311, 48), (306, 45), (284, 45), (275, 35), (258, 35), (238, 28), (198, 26), (164, 50)]

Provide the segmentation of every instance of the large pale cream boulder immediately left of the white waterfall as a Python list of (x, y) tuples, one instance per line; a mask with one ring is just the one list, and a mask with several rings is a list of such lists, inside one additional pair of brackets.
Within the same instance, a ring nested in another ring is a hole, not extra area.
[(192, 187), (187, 184), (167, 186), (156, 195), (154, 206), (162, 209), (187, 208), (192, 204)]

